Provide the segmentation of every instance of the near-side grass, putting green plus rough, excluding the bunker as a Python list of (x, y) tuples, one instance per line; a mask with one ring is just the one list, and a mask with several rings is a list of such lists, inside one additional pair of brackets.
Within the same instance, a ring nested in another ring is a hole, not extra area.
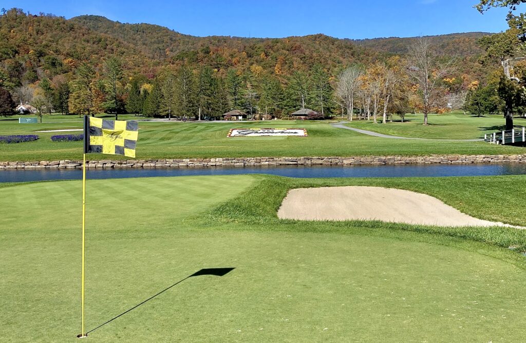
[[(94, 342), (521, 341), (526, 232), (281, 221), (290, 188), (425, 192), (525, 225), (526, 176), (88, 181), (86, 325)], [(0, 341), (76, 341), (80, 182), (0, 189)], [(495, 196), (498, 200), (495, 201)]]

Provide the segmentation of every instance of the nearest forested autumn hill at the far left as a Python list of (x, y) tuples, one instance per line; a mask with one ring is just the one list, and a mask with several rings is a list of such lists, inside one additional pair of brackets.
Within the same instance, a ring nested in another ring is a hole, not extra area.
[(15, 84), (71, 71), (82, 61), (108, 56), (143, 69), (150, 60), (134, 45), (50, 15), (27, 15), (11, 9), (0, 16), (0, 66)]

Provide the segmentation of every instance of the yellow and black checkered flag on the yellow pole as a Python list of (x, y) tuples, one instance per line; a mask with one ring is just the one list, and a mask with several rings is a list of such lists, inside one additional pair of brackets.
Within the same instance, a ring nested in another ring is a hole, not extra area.
[(135, 157), (138, 123), (84, 117), (84, 153)]

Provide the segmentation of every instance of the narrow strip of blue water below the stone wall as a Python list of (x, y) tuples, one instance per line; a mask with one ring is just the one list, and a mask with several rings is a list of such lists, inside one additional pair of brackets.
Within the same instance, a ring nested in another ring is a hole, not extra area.
[[(145, 178), (153, 176), (272, 174), (292, 178), (403, 178), (410, 176), (483, 176), (526, 174), (526, 164), (423, 164), (423, 165), (349, 165), (283, 167), (216, 167), (216, 168), (152, 168), (92, 169), (88, 179)], [(82, 179), (80, 169), (2, 170), (0, 182)]]

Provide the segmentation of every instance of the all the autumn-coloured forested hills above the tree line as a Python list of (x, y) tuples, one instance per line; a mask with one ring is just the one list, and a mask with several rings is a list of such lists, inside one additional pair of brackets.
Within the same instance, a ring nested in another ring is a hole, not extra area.
[[(458, 71), (470, 79), (487, 72), (478, 63), (477, 39), (483, 33), (431, 37), (446, 56), (457, 56)], [(123, 24), (85, 15), (66, 20), (28, 15), (11, 9), (0, 16), (0, 71), (15, 85), (73, 71), (83, 61), (100, 69), (117, 56), (126, 74), (153, 77), (164, 65), (208, 65), (219, 75), (229, 68), (260, 68), (283, 78), (294, 70), (324, 66), (332, 75), (355, 63), (369, 64), (393, 54), (404, 55), (416, 38), (338, 39), (323, 34), (287, 38), (196, 37), (151, 24)]]

